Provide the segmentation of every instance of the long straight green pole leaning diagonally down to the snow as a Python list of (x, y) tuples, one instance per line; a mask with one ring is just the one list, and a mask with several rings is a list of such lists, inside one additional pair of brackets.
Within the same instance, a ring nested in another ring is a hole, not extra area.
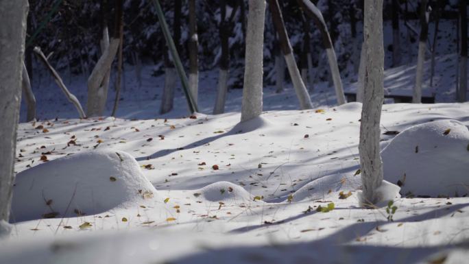
[(184, 71), (184, 67), (182, 67), (182, 62), (178, 54), (178, 50), (176, 49), (176, 45), (174, 45), (173, 38), (169, 33), (169, 28), (165, 20), (165, 15), (163, 14), (163, 10), (161, 9), (160, 1), (153, 0), (153, 3), (156, 8), (156, 15), (158, 16), (158, 21), (160, 21), (161, 28), (163, 29), (163, 35), (165, 35), (166, 43), (169, 47), (169, 51), (171, 52), (171, 56), (173, 57), (174, 64), (176, 64), (176, 70), (178, 71), (179, 78), (182, 83), (182, 90), (184, 90), (184, 95), (186, 95), (187, 104), (189, 105), (189, 110), (191, 112), (198, 112), (197, 103), (192, 98), (191, 92), (189, 91), (189, 82), (187, 81), (186, 72)]

